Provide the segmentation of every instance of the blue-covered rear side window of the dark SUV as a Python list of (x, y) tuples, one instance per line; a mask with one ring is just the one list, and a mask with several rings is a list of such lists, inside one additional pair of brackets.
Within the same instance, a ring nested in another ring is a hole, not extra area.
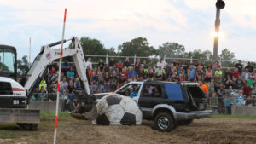
[(165, 84), (166, 94), (169, 100), (183, 101), (183, 92), (181, 91), (179, 84)]

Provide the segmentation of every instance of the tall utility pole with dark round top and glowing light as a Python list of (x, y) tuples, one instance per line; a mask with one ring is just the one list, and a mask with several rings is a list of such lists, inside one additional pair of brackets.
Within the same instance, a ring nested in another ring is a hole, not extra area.
[(224, 9), (225, 3), (223, 0), (217, 0), (216, 2), (216, 20), (215, 20), (215, 33), (216, 36), (214, 36), (214, 44), (213, 44), (213, 60), (218, 59), (218, 30), (220, 25), (220, 9)]

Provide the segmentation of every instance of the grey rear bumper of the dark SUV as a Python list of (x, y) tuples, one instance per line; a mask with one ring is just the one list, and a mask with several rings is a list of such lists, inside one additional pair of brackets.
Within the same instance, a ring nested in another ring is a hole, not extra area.
[(200, 118), (210, 118), (212, 116), (212, 111), (192, 111), (192, 112), (176, 112), (177, 121), (190, 120), (190, 119), (200, 119)]

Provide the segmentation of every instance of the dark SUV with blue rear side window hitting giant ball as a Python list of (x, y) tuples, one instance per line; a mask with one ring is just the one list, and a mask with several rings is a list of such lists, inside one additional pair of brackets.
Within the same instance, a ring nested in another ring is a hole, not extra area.
[[(131, 82), (114, 93), (132, 97), (143, 111), (143, 118), (154, 120), (154, 129), (171, 131), (177, 124), (191, 124), (195, 118), (209, 118), (207, 95), (197, 83), (164, 81)], [(96, 94), (101, 98), (104, 94)]]

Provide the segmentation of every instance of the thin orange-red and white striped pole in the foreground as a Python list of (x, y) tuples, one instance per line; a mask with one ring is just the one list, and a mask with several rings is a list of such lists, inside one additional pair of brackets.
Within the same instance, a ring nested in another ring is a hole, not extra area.
[(57, 126), (58, 126), (58, 115), (59, 115), (59, 101), (60, 101), (61, 63), (62, 63), (63, 41), (64, 41), (64, 33), (65, 33), (65, 25), (66, 25), (66, 14), (67, 14), (67, 9), (65, 8), (64, 22), (63, 22), (63, 29), (62, 29), (62, 38), (61, 38), (61, 55), (60, 55), (59, 73), (58, 73), (58, 91), (57, 91), (56, 112), (55, 112), (54, 144), (56, 143), (56, 137), (57, 137)]

